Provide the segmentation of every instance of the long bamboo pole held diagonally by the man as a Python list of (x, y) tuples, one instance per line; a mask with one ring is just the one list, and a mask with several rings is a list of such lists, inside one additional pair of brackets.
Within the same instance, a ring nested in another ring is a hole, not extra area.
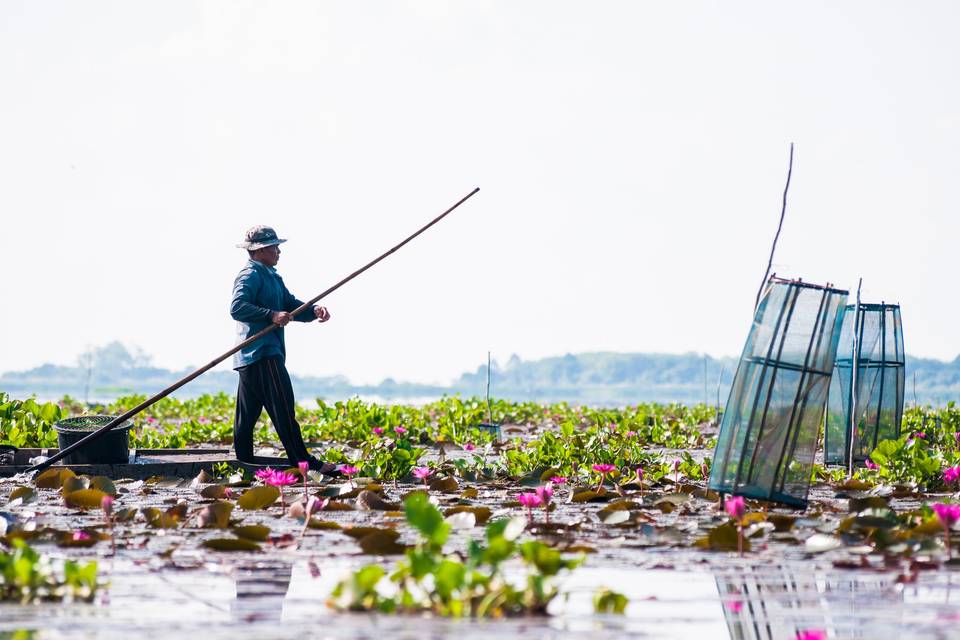
[[(435, 224), (437, 224), (438, 222), (440, 222), (443, 218), (445, 218), (445, 217), (447, 216), (447, 214), (451, 213), (454, 209), (456, 209), (456, 208), (459, 207), (461, 204), (463, 204), (464, 202), (466, 202), (467, 199), (470, 198), (471, 196), (473, 196), (477, 191), (480, 191), (480, 187), (475, 188), (473, 191), (471, 191), (470, 193), (468, 193), (467, 195), (465, 195), (464, 197), (462, 197), (455, 205), (453, 205), (452, 207), (450, 207), (449, 209), (447, 209), (446, 211), (444, 211), (443, 213), (441, 213), (439, 216), (437, 216), (436, 218), (434, 218), (433, 220), (431, 220), (430, 222), (428, 222), (428, 223), (425, 224), (424, 226), (420, 227), (420, 229), (418, 229), (415, 233), (413, 233), (413, 234), (411, 234), (410, 236), (408, 236), (408, 237), (406, 238), (406, 240), (404, 240), (404, 241), (401, 242), (400, 244), (396, 245), (395, 247), (393, 247), (392, 249), (390, 249), (390, 250), (387, 251), (386, 253), (380, 255), (380, 256), (377, 257), (376, 259), (371, 260), (370, 262), (368, 262), (368, 263), (365, 264), (364, 266), (360, 267), (359, 269), (357, 269), (356, 271), (354, 271), (353, 273), (351, 273), (350, 275), (348, 275), (346, 278), (344, 278), (343, 280), (341, 280), (341, 281), (338, 282), (337, 284), (333, 285), (332, 287), (330, 287), (329, 289), (327, 289), (326, 291), (324, 291), (323, 293), (321, 293), (321, 294), (319, 294), (319, 295), (317, 295), (317, 296), (314, 296), (313, 298), (311, 298), (311, 299), (308, 300), (307, 302), (304, 302), (302, 305), (300, 305), (299, 307), (297, 307), (296, 309), (294, 309), (293, 311), (291, 311), (291, 314), (297, 315), (297, 314), (301, 313), (302, 311), (305, 311), (306, 309), (309, 309), (309, 308), (312, 307), (317, 301), (322, 300), (323, 298), (327, 297), (328, 295), (330, 295), (331, 293), (333, 293), (334, 291), (336, 291), (337, 289), (339, 289), (339, 288), (342, 287), (343, 285), (347, 284), (348, 282), (350, 282), (351, 280), (353, 280), (354, 278), (356, 278), (357, 276), (359, 276), (361, 273), (363, 273), (364, 271), (366, 271), (367, 269), (369, 269), (369, 268), (372, 267), (373, 265), (377, 264), (378, 262), (380, 262), (381, 260), (383, 260), (384, 258), (386, 258), (387, 256), (389, 256), (390, 254), (394, 253), (395, 251), (397, 251), (398, 249), (400, 249), (402, 246), (404, 246), (405, 244), (407, 244), (408, 242), (410, 242), (411, 240), (413, 240), (414, 238), (416, 238), (418, 235), (420, 235), (421, 233), (423, 233), (424, 231), (426, 231), (427, 229), (429, 229), (429, 228), (432, 227), (433, 225), (435, 225)], [(104, 426), (100, 427), (100, 428), (97, 429), (96, 431), (91, 431), (89, 435), (86, 435), (86, 436), (84, 436), (83, 438), (81, 438), (80, 440), (74, 442), (72, 445), (70, 445), (70, 446), (68, 446), (68, 447), (66, 447), (66, 448), (64, 448), (64, 449), (61, 449), (61, 450), (60, 450), (59, 452), (57, 452), (55, 455), (47, 458), (47, 459), (44, 460), (43, 462), (40, 462), (40, 463), (38, 463), (38, 464), (33, 465), (33, 466), (30, 467), (27, 471), (41, 471), (41, 470), (43, 470), (43, 469), (46, 469), (46, 468), (49, 467), (50, 465), (54, 464), (55, 462), (59, 462), (59, 461), (62, 460), (65, 456), (73, 453), (74, 451), (76, 451), (76, 450), (79, 449), (80, 447), (83, 447), (84, 445), (87, 445), (87, 444), (93, 442), (94, 440), (96, 440), (97, 438), (99, 438), (100, 436), (102, 436), (103, 434), (105, 434), (107, 431), (110, 431), (110, 429), (113, 429), (113, 428), (116, 427), (117, 425), (123, 424), (124, 422), (126, 422), (127, 420), (129, 420), (130, 418), (132, 418), (133, 416), (137, 415), (138, 413), (140, 413), (141, 411), (143, 411), (144, 409), (146, 409), (147, 407), (149, 407), (150, 405), (152, 405), (153, 403), (155, 403), (155, 402), (157, 402), (158, 400), (161, 400), (161, 399), (167, 397), (168, 395), (170, 395), (171, 393), (173, 393), (174, 391), (176, 391), (177, 389), (179, 389), (179, 388), (182, 387), (183, 385), (187, 384), (188, 382), (194, 380), (195, 378), (199, 377), (199, 376), (202, 375), (203, 373), (205, 373), (205, 372), (209, 371), (210, 369), (212, 369), (213, 367), (217, 366), (218, 364), (220, 364), (221, 362), (223, 362), (224, 360), (226, 360), (227, 358), (229, 358), (230, 356), (232, 356), (233, 354), (235, 354), (237, 351), (240, 351), (240, 349), (243, 349), (245, 346), (247, 346), (247, 345), (249, 345), (249, 344), (251, 344), (251, 343), (259, 340), (259, 339), (262, 338), (263, 336), (267, 335), (267, 334), (270, 333), (271, 331), (274, 331), (274, 330), (276, 330), (276, 329), (278, 329), (278, 328), (279, 328), (279, 325), (271, 324), (270, 326), (266, 327), (266, 328), (263, 329), (262, 331), (258, 331), (257, 333), (255, 333), (254, 335), (250, 336), (249, 338), (247, 338), (247, 339), (244, 340), (243, 342), (237, 344), (235, 347), (233, 347), (232, 349), (230, 349), (229, 351), (227, 351), (227, 352), (224, 353), (223, 355), (219, 356), (218, 358), (216, 358), (216, 359), (214, 359), (214, 360), (211, 360), (210, 362), (208, 362), (208, 363), (205, 364), (204, 366), (200, 367), (199, 369), (197, 369), (196, 371), (194, 371), (194, 372), (191, 373), (190, 375), (188, 375), (188, 376), (186, 376), (186, 377), (184, 377), (184, 378), (181, 378), (180, 380), (178, 380), (177, 382), (173, 383), (172, 385), (170, 385), (169, 387), (167, 387), (166, 389), (164, 389), (164, 390), (161, 391), (160, 393), (156, 394), (155, 396), (152, 396), (152, 397), (150, 397), (150, 398), (147, 398), (146, 400), (144, 400), (143, 402), (141, 402), (140, 404), (138, 404), (137, 406), (135, 406), (133, 409), (130, 409), (129, 411), (127, 411), (127, 412), (124, 413), (123, 415), (117, 416), (116, 418), (114, 418), (113, 420), (111, 420), (110, 422), (108, 422), (107, 424), (105, 424)]]

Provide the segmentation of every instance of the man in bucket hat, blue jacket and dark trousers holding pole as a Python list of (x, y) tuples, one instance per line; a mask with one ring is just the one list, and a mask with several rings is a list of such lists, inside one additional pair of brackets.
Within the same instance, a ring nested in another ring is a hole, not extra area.
[(233, 356), (233, 368), (240, 374), (233, 446), (238, 460), (253, 462), (253, 429), (266, 408), (291, 465), (307, 461), (311, 469), (334, 475), (334, 465), (324, 464), (311, 456), (303, 443), (294, 412), (293, 387), (284, 364), (286, 348), (282, 328), (291, 320), (326, 322), (330, 313), (318, 305), (296, 316), (290, 313), (303, 303), (287, 290), (274, 268), (280, 260), (280, 244), (283, 242), (286, 240), (278, 238), (272, 228), (261, 225), (249, 229), (244, 242), (237, 245), (246, 249), (250, 257), (233, 283), (230, 315), (237, 321), (237, 342), (246, 340), (271, 323), (280, 328)]

